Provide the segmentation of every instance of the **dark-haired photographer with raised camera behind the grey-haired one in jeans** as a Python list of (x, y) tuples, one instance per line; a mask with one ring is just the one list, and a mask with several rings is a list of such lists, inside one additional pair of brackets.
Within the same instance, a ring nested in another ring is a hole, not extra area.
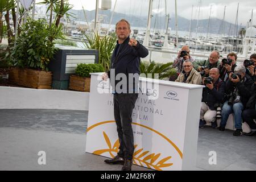
[(220, 70), (220, 78), (223, 81), (227, 81), (229, 78), (229, 73), (234, 72), (237, 64), (237, 55), (234, 52), (228, 54), (227, 59), (222, 59), (218, 69)]

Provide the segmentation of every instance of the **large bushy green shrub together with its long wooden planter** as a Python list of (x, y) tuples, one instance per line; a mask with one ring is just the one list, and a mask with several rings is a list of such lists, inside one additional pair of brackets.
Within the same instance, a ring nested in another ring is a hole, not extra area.
[(63, 38), (61, 30), (61, 26), (49, 26), (44, 19), (27, 19), (16, 46), (11, 49), (11, 82), (29, 88), (51, 89), (52, 73), (48, 72), (47, 65), (56, 51), (53, 40)]

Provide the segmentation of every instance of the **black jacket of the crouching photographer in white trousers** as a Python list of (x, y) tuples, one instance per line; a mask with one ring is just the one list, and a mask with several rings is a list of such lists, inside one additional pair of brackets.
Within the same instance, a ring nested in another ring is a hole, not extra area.
[(210, 90), (209, 88), (203, 88), (203, 98), (202, 102), (205, 102), (210, 108), (210, 110), (216, 110), (214, 104), (222, 103), (225, 93), (225, 82), (220, 78), (213, 84), (214, 88)]

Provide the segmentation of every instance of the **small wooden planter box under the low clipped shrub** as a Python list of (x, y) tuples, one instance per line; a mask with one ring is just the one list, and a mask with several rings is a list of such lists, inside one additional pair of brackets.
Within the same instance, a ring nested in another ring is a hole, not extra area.
[(90, 92), (90, 78), (71, 75), (69, 77), (69, 89)]

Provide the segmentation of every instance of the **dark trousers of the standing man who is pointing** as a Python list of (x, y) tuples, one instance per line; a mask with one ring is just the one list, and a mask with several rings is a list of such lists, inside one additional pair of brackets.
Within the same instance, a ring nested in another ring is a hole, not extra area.
[(131, 115), (137, 98), (137, 93), (114, 94), (114, 117), (120, 143), (117, 155), (129, 160), (133, 159), (134, 152)]

